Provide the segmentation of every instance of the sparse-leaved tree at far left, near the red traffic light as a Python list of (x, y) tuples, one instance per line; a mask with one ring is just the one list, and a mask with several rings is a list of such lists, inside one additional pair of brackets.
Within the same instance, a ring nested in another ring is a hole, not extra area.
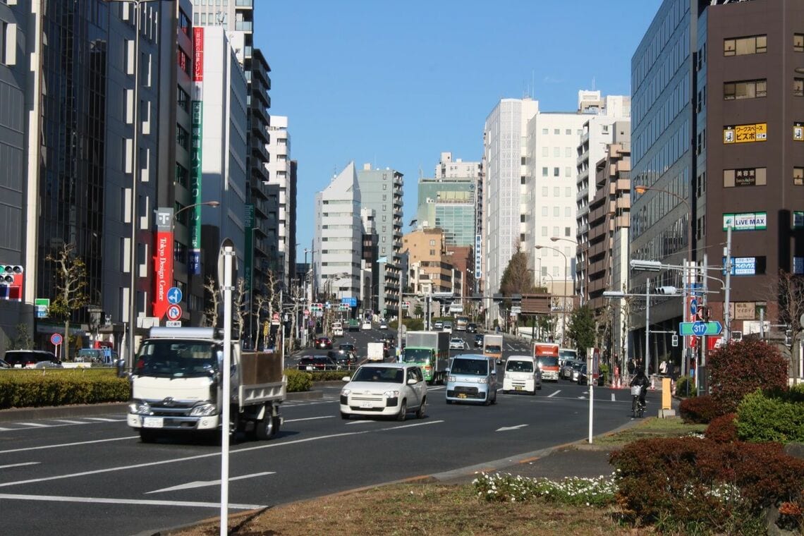
[(72, 313), (89, 303), (87, 297), (87, 266), (76, 255), (76, 244), (65, 243), (46, 260), (55, 264), (55, 298), (51, 300), (50, 314), (64, 320), (64, 358), (70, 357), (70, 321)]

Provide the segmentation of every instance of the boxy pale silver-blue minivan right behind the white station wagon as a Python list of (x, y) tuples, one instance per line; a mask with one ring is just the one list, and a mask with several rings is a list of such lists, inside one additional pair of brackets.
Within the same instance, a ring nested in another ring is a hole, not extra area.
[(447, 372), (447, 403), (497, 403), (497, 366), (482, 354), (456, 355)]

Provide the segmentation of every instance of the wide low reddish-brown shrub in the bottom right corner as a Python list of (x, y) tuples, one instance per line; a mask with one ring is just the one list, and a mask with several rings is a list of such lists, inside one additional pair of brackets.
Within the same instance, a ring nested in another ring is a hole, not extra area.
[(626, 516), (679, 527), (695, 522), (726, 534), (749, 531), (769, 505), (795, 501), (804, 480), (804, 460), (773, 443), (638, 440), (609, 461)]

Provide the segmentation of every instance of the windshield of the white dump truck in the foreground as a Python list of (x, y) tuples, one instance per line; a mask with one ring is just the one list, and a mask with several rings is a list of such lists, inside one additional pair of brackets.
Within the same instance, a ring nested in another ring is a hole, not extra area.
[(214, 342), (148, 340), (137, 353), (134, 374), (160, 378), (198, 378), (214, 374), (224, 350)]

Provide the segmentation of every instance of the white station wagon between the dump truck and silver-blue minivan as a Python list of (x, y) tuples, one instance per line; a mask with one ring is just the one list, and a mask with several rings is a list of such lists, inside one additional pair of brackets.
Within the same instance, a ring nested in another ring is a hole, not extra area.
[(360, 366), (341, 390), (341, 418), (351, 415), (389, 416), (404, 420), (408, 411), (424, 418), (427, 383), (418, 366), (409, 363), (371, 363)]

